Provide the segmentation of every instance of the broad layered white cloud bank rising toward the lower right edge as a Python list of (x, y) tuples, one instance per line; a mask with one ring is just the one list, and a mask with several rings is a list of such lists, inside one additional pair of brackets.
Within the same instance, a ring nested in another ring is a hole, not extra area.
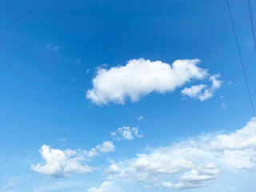
[(144, 187), (186, 189), (209, 186), (222, 172), (256, 171), (256, 122), (231, 134), (203, 134), (177, 144), (147, 149), (135, 158), (111, 162), (110, 181), (134, 179)]

